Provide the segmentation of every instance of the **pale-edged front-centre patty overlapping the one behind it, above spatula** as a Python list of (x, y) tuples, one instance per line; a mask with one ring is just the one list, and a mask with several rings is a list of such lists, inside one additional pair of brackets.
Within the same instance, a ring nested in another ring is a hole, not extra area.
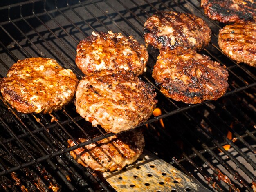
[(132, 71), (104, 70), (85, 76), (76, 89), (76, 111), (93, 126), (119, 133), (146, 121), (157, 101), (153, 87)]

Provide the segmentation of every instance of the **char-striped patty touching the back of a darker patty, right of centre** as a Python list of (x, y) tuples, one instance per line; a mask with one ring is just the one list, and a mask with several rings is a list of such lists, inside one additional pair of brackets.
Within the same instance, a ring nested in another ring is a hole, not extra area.
[(157, 49), (182, 46), (200, 50), (211, 40), (211, 29), (189, 13), (157, 12), (144, 24), (145, 42)]

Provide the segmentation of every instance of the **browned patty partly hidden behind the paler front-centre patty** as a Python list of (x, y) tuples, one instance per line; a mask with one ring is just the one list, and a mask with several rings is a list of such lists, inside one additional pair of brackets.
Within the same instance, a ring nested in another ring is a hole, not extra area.
[(132, 36), (121, 33), (92, 32), (77, 45), (76, 65), (88, 75), (103, 69), (131, 70), (136, 76), (146, 71), (148, 52)]

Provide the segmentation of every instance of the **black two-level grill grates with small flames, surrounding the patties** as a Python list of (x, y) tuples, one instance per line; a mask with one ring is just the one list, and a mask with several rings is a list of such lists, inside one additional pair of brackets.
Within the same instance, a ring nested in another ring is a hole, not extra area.
[[(155, 87), (162, 114), (141, 125), (145, 148), (210, 190), (256, 190), (256, 69), (238, 65), (222, 54), (217, 38), (223, 26), (204, 15), (199, 0), (4, 3), (10, 2), (1, 2), (0, 7), (1, 78), (20, 59), (48, 57), (81, 79), (83, 74), (74, 63), (76, 45), (92, 31), (121, 32), (144, 43), (144, 22), (156, 11), (189, 12), (203, 18), (213, 35), (202, 54), (227, 66), (227, 94), (218, 101), (196, 105), (166, 98), (151, 77), (158, 52), (148, 47), (150, 58), (141, 78)], [(79, 165), (67, 153), (113, 135), (96, 127), (100, 136), (92, 138), (90, 129), (74, 104), (50, 115), (21, 114), (0, 96), (0, 189), (115, 191), (101, 174)], [(89, 141), (77, 144), (78, 132)], [(68, 147), (67, 139), (77, 145)]]

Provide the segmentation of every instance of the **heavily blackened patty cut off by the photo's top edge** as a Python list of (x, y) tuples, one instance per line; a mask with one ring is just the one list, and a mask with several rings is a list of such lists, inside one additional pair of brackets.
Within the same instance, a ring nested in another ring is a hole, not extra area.
[(201, 0), (204, 13), (223, 23), (255, 21), (256, 0)]

